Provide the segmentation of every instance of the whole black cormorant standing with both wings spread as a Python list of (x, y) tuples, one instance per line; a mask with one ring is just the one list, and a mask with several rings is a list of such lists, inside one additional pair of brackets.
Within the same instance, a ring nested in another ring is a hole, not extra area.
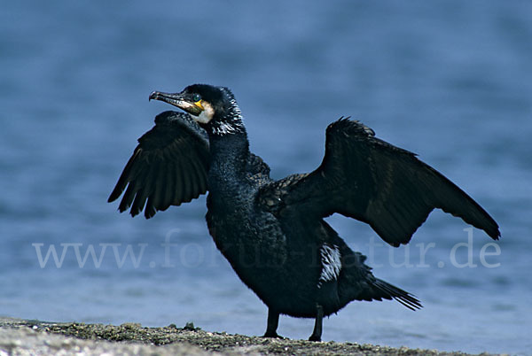
[[(125, 191), (120, 212), (151, 218), (208, 190), (207, 226), (242, 282), (268, 306), (264, 337), (278, 337), (279, 314), (315, 318), (352, 300), (394, 298), (412, 310), (417, 298), (372, 275), (324, 221), (332, 213), (364, 221), (393, 246), (407, 244), (434, 208), (462, 218), (491, 238), (497, 222), (463, 190), (410, 151), (371, 128), (340, 118), (326, 130), (325, 158), (309, 174), (270, 179), (249, 151), (242, 114), (230, 89), (194, 84), (150, 99), (184, 112), (162, 112), (138, 140), (109, 202)], [(127, 188), (127, 189), (126, 189)]]

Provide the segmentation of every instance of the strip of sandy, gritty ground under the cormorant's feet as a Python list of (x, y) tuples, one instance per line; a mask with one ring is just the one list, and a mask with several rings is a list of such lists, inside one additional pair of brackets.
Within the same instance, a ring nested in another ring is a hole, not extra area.
[(4, 355), (465, 355), (461, 352), (392, 348), (372, 344), (314, 343), (246, 337), (184, 328), (143, 328), (0, 318)]

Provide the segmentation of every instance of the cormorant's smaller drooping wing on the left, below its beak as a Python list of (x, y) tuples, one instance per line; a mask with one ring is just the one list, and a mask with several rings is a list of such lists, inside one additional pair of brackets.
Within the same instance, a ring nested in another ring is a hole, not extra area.
[[(207, 192), (208, 137), (182, 112), (161, 112), (155, 126), (138, 139), (108, 202), (124, 193), (119, 210), (145, 218), (169, 205), (181, 205)], [(126, 189), (127, 187), (127, 189)]]

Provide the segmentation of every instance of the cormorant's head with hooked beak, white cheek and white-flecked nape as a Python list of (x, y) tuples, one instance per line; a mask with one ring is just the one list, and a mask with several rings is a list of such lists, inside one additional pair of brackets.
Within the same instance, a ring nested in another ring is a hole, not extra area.
[(239, 105), (230, 89), (193, 84), (180, 93), (153, 91), (150, 100), (160, 100), (188, 112), (207, 132), (234, 134), (244, 130)]

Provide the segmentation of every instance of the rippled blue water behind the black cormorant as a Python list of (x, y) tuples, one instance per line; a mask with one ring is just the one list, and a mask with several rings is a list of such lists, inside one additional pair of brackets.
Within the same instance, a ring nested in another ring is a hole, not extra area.
[[(208, 82), (234, 91), (275, 177), (319, 165), (325, 127), (352, 115), (501, 226), (500, 243), (473, 230), (470, 244), (465, 223), (434, 212), (391, 249), (363, 223), (328, 219), (425, 307), (354, 302), (325, 320), (325, 340), (532, 353), (530, 14), (524, 0), (5, 2), (0, 315), (262, 334), (266, 307), (215, 250), (204, 197), (150, 221), (106, 203), (137, 137), (169, 109), (148, 94)], [(44, 263), (51, 247), (58, 259), (65, 248), (60, 267)], [(90, 247), (103, 258), (83, 265), (75, 249)], [(312, 326), (282, 317), (279, 334)]]

